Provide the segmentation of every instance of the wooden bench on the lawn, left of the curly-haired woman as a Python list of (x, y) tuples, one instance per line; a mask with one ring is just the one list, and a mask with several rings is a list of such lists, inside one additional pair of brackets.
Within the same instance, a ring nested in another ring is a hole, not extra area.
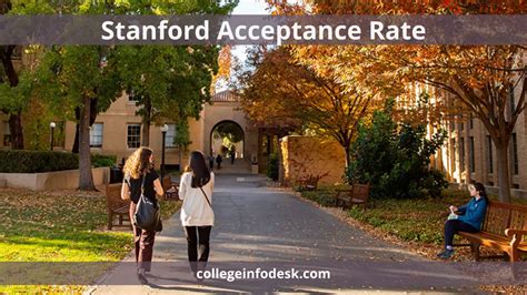
[[(108, 230), (113, 226), (126, 226), (132, 228), (130, 222), (130, 200), (121, 199), (121, 183), (106, 185), (106, 203), (108, 206)], [(118, 216), (118, 223), (113, 223), (113, 216)], [(127, 221), (128, 224), (123, 222)]]

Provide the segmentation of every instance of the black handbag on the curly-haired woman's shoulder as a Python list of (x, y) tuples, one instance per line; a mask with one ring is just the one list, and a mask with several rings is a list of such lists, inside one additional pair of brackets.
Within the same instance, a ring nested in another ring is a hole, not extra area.
[(162, 230), (159, 203), (145, 195), (145, 175), (141, 182), (141, 196), (133, 214), (133, 224), (149, 232), (161, 232)]

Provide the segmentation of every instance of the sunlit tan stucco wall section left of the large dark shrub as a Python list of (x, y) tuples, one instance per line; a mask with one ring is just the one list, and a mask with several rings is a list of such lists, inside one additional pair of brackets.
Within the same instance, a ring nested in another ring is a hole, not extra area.
[(322, 176), (319, 184), (342, 182), (346, 166), (344, 149), (335, 141), (310, 136), (286, 136), (280, 140), (280, 181), (294, 185), (298, 179)]

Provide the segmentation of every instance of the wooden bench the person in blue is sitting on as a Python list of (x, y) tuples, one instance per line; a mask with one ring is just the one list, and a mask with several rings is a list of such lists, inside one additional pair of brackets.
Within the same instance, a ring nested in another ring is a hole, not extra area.
[[(506, 258), (518, 262), (527, 254), (527, 206), (489, 202), (481, 231), (478, 233), (459, 232), (470, 244), (474, 258)], [(499, 256), (480, 257), (479, 247), (486, 246), (504, 252)]]

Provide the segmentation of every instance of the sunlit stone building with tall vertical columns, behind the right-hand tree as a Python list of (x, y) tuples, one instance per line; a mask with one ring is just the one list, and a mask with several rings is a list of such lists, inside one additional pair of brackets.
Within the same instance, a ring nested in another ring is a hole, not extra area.
[[(520, 89), (509, 95), (506, 115), (518, 104)], [(458, 114), (441, 128), (448, 138), (432, 157), (431, 165), (444, 171), (451, 183), (481, 182), (489, 192), (498, 192), (496, 149), (485, 125), (478, 119)], [(429, 131), (432, 130), (429, 128)], [(519, 115), (509, 142), (511, 194), (527, 197), (527, 115)]]

